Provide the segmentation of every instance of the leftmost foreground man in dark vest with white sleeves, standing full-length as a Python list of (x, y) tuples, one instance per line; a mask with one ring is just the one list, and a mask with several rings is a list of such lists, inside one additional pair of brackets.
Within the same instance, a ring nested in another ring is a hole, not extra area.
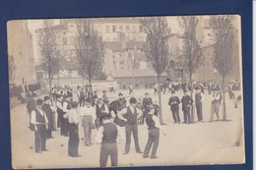
[(36, 100), (35, 109), (32, 111), (32, 125), (34, 131), (34, 149), (36, 153), (48, 151), (46, 149), (46, 130), (48, 129), (48, 120), (45, 113), (41, 110), (42, 99)]

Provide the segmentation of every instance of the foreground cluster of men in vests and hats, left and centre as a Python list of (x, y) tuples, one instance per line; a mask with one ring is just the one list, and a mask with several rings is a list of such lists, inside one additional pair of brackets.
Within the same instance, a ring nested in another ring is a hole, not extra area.
[[(110, 104), (103, 97), (96, 100), (87, 97), (85, 105), (79, 106), (78, 101), (73, 101), (71, 94), (56, 95), (56, 111), (58, 115), (57, 127), (60, 128), (60, 135), (69, 137), (68, 155), (72, 157), (81, 157), (79, 154), (79, 124), (82, 123), (84, 130), (85, 146), (93, 145), (92, 131), (96, 127), (95, 141), (101, 143), (99, 164), (100, 167), (106, 166), (107, 157), (110, 155), (111, 165), (117, 166), (117, 136), (124, 138), (124, 127), (126, 134), (124, 155), (130, 151), (131, 135), (133, 134), (135, 148), (138, 153), (144, 153), (143, 157), (149, 157), (153, 145), (151, 158), (157, 158), (157, 148), (160, 139), (160, 122), (156, 116), (156, 107), (153, 104), (149, 93), (145, 94), (143, 104), (137, 102), (135, 97), (129, 99), (129, 104), (120, 92), (119, 98)], [(105, 91), (103, 96), (106, 97)], [(114, 105), (114, 107), (113, 107)], [(142, 110), (139, 108), (142, 108)], [(50, 105), (48, 96), (42, 99), (38, 98), (34, 108), (31, 109), (30, 123), (34, 131), (34, 148), (36, 153), (48, 151), (46, 149), (46, 140), (53, 138), (54, 108)], [(158, 114), (157, 114), (158, 115)], [(145, 146), (144, 152), (141, 150), (138, 137), (138, 125), (141, 121), (146, 122), (149, 130), (149, 141)]]

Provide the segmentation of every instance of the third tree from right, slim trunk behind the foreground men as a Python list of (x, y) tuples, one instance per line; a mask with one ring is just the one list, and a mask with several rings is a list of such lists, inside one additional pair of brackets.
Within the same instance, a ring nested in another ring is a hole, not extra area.
[(148, 63), (158, 74), (160, 124), (163, 124), (160, 98), (160, 76), (165, 71), (169, 63), (170, 54), (167, 44), (167, 38), (169, 37), (170, 31), (167, 27), (166, 19), (162, 17), (144, 18), (141, 20), (141, 24), (147, 34), (147, 39), (145, 43), (146, 58), (148, 60)]

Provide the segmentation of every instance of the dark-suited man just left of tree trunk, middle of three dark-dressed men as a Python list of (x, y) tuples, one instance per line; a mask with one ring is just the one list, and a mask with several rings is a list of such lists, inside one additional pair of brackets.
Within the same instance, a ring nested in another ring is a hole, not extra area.
[(181, 102), (182, 102), (182, 111), (183, 111), (183, 116), (184, 116), (184, 124), (190, 124), (191, 120), (190, 120), (190, 106), (193, 103), (192, 98), (187, 94), (187, 90), (184, 89), (183, 90), (183, 97), (181, 98)]

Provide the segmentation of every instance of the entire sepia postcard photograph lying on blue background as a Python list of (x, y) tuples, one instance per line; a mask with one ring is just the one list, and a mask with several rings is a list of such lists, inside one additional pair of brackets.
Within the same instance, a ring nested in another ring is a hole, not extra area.
[(244, 164), (239, 15), (7, 23), (14, 169)]

